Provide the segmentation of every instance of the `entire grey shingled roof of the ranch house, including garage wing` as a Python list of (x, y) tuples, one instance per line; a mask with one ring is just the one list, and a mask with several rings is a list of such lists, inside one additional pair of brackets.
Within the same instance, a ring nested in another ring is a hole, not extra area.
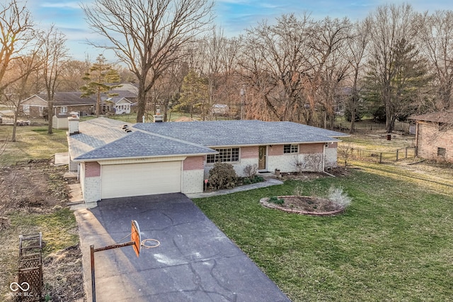
[[(132, 132), (122, 129), (127, 125)], [(258, 120), (127, 124), (105, 117), (79, 123), (71, 158), (98, 160), (215, 153), (208, 147), (339, 141), (348, 134), (294, 122)]]

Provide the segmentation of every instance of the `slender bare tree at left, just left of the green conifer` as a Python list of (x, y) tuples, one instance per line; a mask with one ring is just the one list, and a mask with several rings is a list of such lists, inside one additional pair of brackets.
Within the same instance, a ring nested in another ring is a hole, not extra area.
[(47, 110), (49, 112), (49, 125), (47, 133), (52, 134), (52, 117), (54, 107), (54, 95), (59, 82), (62, 80), (63, 64), (67, 59), (66, 36), (52, 25), (42, 35), (42, 79), (47, 93)]

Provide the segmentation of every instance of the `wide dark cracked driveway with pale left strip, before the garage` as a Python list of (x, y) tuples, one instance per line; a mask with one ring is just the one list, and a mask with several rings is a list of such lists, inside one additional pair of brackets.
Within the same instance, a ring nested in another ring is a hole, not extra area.
[(105, 199), (75, 213), (88, 301), (90, 245), (129, 241), (131, 220), (142, 240), (161, 244), (139, 258), (131, 246), (96, 252), (96, 301), (289, 301), (184, 194)]

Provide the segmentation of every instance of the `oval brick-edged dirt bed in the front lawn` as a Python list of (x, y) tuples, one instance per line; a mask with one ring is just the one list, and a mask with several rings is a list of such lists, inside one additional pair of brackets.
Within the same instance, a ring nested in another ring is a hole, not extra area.
[(325, 198), (309, 196), (279, 196), (277, 198), (283, 203), (275, 204), (270, 202), (269, 198), (263, 198), (260, 200), (260, 204), (263, 204), (264, 207), (306, 215), (334, 215), (344, 211), (344, 207)]

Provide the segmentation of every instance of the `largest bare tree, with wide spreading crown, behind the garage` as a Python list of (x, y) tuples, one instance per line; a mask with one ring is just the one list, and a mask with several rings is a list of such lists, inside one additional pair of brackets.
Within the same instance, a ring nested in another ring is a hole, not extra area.
[(121, 62), (137, 76), (137, 122), (142, 121), (147, 93), (174, 64), (181, 47), (207, 30), (212, 21), (209, 0), (95, 0), (82, 5), (88, 25), (106, 37)]

